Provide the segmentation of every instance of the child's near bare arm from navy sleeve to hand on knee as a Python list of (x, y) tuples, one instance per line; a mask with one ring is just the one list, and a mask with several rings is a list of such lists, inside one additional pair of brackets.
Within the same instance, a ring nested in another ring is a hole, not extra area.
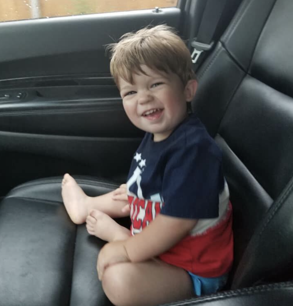
[(197, 220), (158, 215), (144, 230), (125, 241), (106, 244), (97, 263), (99, 279), (106, 267), (119, 262), (139, 262), (158, 256), (184, 238)]

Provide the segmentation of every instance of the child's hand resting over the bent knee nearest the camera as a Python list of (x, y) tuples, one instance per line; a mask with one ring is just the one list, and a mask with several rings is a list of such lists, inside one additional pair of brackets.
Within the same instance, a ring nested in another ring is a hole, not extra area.
[(99, 280), (103, 278), (107, 267), (115, 263), (130, 262), (124, 241), (107, 243), (100, 251), (97, 262)]

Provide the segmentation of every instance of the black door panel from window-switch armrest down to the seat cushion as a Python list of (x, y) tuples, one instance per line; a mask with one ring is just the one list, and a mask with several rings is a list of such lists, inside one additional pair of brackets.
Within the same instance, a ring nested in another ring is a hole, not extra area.
[(47, 80), (50, 86), (0, 90), (10, 95), (0, 102), (2, 194), (65, 172), (125, 180), (143, 133), (127, 118), (113, 81), (95, 83), (51, 86)]

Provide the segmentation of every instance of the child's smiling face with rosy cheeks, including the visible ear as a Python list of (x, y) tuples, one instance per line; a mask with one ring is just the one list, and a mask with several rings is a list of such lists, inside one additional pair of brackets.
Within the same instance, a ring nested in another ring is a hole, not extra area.
[(134, 84), (119, 78), (123, 107), (136, 127), (161, 141), (186, 117), (186, 101), (193, 98), (197, 83), (190, 80), (184, 88), (174, 73), (141, 68), (147, 75), (133, 73)]

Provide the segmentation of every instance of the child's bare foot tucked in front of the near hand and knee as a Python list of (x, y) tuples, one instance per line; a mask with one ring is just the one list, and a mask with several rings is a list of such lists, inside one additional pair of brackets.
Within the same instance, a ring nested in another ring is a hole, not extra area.
[(126, 240), (130, 236), (130, 230), (96, 209), (87, 216), (86, 228), (89, 234), (109, 242)]

